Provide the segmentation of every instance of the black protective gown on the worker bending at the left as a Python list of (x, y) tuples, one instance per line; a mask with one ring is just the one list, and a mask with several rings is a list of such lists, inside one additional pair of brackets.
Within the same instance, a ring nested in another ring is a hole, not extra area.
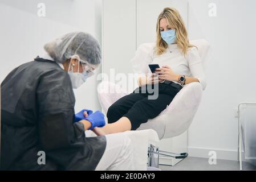
[[(94, 170), (105, 137), (86, 138), (73, 123), (75, 97), (68, 73), (36, 58), (15, 68), (1, 84), (1, 169)], [(38, 151), (46, 164), (38, 164)]]

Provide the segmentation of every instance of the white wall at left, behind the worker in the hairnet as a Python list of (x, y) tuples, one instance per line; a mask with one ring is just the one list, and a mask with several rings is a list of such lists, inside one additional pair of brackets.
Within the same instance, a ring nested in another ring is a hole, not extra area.
[[(41, 2), (46, 5), (46, 17), (37, 15)], [(67, 32), (85, 31), (101, 43), (101, 0), (1, 0), (0, 22), (2, 82), (18, 65), (44, 55), (44, 43)], [(76, 111), (100, 109), (96, 84), (94, 76), (75, 90)]]

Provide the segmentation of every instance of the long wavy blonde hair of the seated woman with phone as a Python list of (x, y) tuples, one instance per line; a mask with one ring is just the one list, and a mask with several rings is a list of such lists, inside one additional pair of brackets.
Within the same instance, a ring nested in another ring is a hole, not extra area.
[(180, 13), (172, 7), (165, 7), (165, 9), (160, 13), (157, 18), (156, 32), (156, 55), (161, 55), (165, 52), (165, 49), (168, 48), (168, 44), (162, 40), (160, 33), (160, 20), (166, 18), (170, 27), (176, 30), (176, 43), (178, 48), (181, 49), (181, 53), (185, 56), (188, 52), (188, 49), (193, 46), (189, 43), (188, 32), (186, 31), (185, 24), (181, 18)]

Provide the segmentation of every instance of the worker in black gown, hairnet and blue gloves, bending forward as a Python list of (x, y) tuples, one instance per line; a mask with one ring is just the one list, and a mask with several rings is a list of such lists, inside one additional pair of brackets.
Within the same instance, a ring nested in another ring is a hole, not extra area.
[[(94, 170), (106, 138), (86, 138), (84, 131), (104, 126), (104, 115), (75, 114), (72, 88), (100, 64), (99, 43), (90, 34), (72, 32), (44, 49), (50, 59), (20, 65), (1, 84), (1, 169)], [(43, 165), (39, 151), (46, 155)]]

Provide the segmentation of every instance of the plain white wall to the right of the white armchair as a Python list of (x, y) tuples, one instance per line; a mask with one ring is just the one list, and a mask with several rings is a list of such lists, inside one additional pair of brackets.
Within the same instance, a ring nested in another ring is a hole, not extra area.
[[(209, 3), (216, 3), (216, 17), (208, 15)], [(216, 150), (218, 159), (237, 159), (234, 108), (256, 101), (255, 6), (251, 0), (189, 1), (190, 39), (205, 38), (212, 46), (208, 86), (188, 133), (192, 156), (209, 157)]]

